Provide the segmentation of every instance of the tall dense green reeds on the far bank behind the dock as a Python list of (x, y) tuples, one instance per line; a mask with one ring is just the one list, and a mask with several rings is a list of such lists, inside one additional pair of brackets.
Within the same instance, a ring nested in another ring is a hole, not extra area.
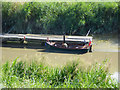
[(119, 2), (2, 2), (3, 33), (117, 33)]

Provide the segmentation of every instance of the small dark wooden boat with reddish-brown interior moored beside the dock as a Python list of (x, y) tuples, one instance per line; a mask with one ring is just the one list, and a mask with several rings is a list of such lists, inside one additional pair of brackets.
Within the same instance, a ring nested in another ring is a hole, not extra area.
[(76, 44), (76, 43), (62, 43), (62, 42), (46, 42), (46, 46), (55, 50), (79, 51), (83, 53), (91, 52), (91, 45)]

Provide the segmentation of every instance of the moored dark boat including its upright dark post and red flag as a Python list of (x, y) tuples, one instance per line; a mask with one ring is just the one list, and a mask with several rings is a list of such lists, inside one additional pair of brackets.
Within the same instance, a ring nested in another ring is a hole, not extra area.
[[(89, 41), (87, 40), (86, 42), (86, 38), (89, 39)], [(47, 48), (54, 49), (54, 50), (77, 51), (80, 53), (87, 53), (88, 51), (92, 52), (91, 41), (92, 41), (91, 37), (88, 38), (87, 36), (85, 36), (84, 40), (77, 42), (77, 43), (66, 42), (65, 35), (63, 35), (63, 41), (61, 42), (49, 41), (49, 38), (47, 38), (45, 45), (47, 46)]]

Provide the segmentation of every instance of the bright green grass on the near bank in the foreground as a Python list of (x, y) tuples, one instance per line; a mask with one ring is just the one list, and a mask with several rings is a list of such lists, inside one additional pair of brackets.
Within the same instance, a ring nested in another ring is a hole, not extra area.
[(83, 69), (78, 62), (72, 62), (62, 68), (52, 68), (16, 59), (2, 66), (1, 81), (8, 88), (118, 88), (105, 65), (106, 61)]

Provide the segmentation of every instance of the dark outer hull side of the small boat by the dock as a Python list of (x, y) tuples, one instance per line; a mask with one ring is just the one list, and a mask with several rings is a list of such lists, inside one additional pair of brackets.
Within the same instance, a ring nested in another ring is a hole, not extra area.
[(77, 53), (87, 53), (89, 51), (89, 48), (86, 48), (86, 49), (58, 48), (58, 47), (54, 47), (54, 46), (48, 44), (47, 42), (45, 43), (45, 46), (47, 47), (47, 49), (60, 50), (60, 51), (70, 51), (70, 52), (77, 52)]

